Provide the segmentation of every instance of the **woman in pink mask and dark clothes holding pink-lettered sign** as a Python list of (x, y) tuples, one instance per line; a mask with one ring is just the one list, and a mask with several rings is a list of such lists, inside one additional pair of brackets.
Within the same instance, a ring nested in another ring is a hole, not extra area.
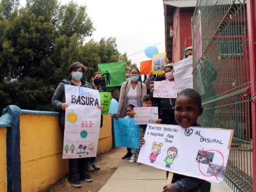
[[(165, 80), (163, 81), (174, 81), (174, 77), (173, 77), (174, 69), (171, 64), (165, 65), (164, 72), (165, 72)], [(152, 72), (150, 72), (150, 74), (152, 76)], [(150, 75), (148, 77), (150, 77)], [(150, 84), (148, 84), (148, 81), (146, 81), (145, 84), (147, 88), (151, 88)], [(154, 88), (151, 88), (150, 92), (153, 93)], [(163, 118), (163, 124), (177, 125), (177, 122), (174, 117), (175, 102), (176, 102), (176, 99), (166, 99), (166, 98), (160, 99), (160, 108), (161, 108), (161, 113)]]

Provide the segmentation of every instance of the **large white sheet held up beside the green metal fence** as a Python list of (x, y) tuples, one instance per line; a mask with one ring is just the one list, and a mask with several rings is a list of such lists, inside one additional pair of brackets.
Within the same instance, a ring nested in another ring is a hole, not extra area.
[(193, 56), (172, 64), (174, 68), (173, 77), (178, 93), (186, 88), (193, 89)]

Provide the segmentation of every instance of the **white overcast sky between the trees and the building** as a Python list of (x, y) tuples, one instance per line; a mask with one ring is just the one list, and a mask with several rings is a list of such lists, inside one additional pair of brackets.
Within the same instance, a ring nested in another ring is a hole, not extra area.
[[(70, 0), (62, 0), (67, 4)], [(87, 5), (88, 16), (96, 31), (90, 38), (99, 42), (100, 38), (116, 38), (118, 51), (127, 56), (143, 51), (149, 45), (156, 45), (159, 53), (164, 47), (163, 0), (74, 0)], [(20, 0), (25, 6), (26, 0)], [(90, 40), (86, 38), (86, 42)], [(140, 67), (141, 61), (151, 60), (140, 52), (128, 57)]]

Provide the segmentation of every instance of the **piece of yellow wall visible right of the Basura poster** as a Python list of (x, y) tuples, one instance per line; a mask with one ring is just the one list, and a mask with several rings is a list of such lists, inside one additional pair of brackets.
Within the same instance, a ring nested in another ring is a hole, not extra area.
[(100, 128), (97, 155), (104, 154), (112, 148), (111, 115), (103, 115), (103, 126)]

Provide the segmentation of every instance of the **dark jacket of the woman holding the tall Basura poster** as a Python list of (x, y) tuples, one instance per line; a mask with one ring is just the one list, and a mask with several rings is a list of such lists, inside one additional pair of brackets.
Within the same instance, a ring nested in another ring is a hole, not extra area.
[[(61, 113), (61, 115), (60, 115), (60, 125), (61, 126), (65, 126), (65, 111), (63, 111), (61, 109), (61, 104), (66, 102), (65, 84), (77, 86), (76, 84), (71, 82), (71, 77), (69, 77), (68, 79), (63, 79), (60, 82), (60, 84), (58, 85), (58, 87), (52, 97), (52, 106), (55, 109), (57, 109), (58, 111), (60, 111), (60, 113)], [(81, 79), (81, 86), (92, 89), (92, 85), (86, 81), (83, 81), (83, 79)], [(100, 118), (100, 127), (102, 127), (102, 116)]]

